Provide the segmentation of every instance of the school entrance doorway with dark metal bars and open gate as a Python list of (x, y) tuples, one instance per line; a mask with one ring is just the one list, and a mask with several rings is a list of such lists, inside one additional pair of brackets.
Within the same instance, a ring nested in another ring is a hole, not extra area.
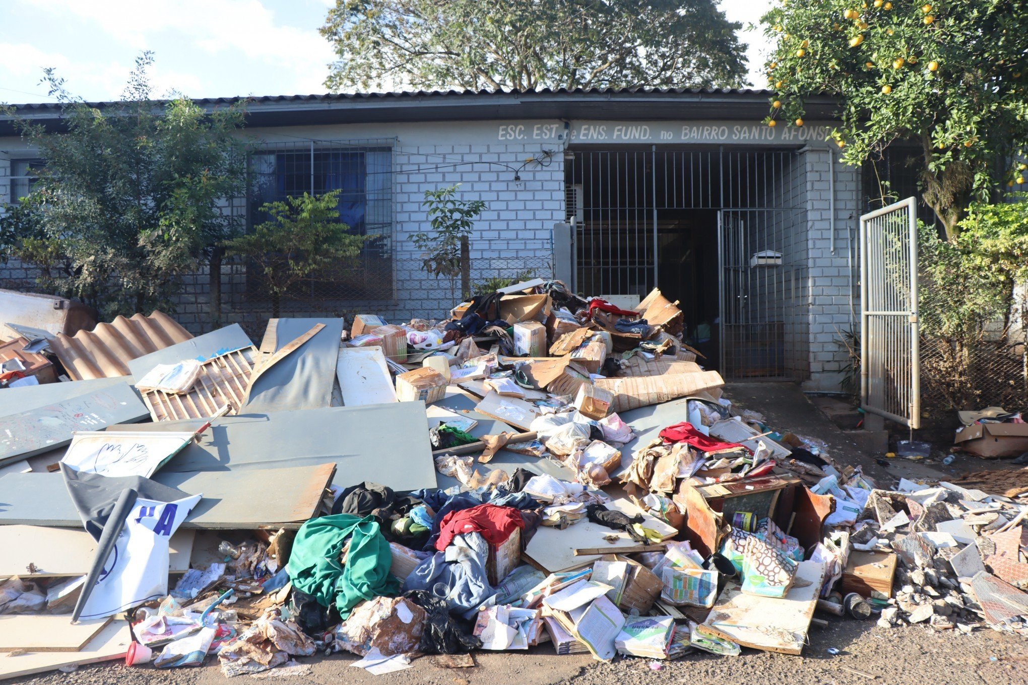
[(686, 340), (726, 379), (808, 373), (806, 216), (795, 151), (573, 150), (574, 287), (680, 300)]

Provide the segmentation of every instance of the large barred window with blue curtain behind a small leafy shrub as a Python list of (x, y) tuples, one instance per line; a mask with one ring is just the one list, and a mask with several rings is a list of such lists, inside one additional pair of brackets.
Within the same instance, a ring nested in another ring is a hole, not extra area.
[[(393, 147), (395, 140), (308, 141), (265, 144), (251, 155), (248, 223), (268, 219), (265, 202), (339, 190), (339, 221), (360, 235), (372, 236), (358, 264), (318, 274), (294, 298), (391, 300), (393, 279)], [(259, 294), (258, 278), (248, 292)]]

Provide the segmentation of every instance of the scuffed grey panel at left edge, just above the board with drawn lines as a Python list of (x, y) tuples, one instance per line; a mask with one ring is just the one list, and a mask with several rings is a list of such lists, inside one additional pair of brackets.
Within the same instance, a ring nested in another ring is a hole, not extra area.
[(136, 390), (120, 380), (109, 388), (0, 418), (0, 465), (67, 445), (75, 430), (103, 430), (149, 417)]

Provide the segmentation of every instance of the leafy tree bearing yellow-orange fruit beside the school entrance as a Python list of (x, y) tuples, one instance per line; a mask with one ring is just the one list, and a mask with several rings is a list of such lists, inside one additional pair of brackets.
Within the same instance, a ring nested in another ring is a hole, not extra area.
[(948, 237), (974, 201), (1025, 182), (1028, 1), (781, 0), (764, 22), (768, 122), (802, 125), (805, 101), (827, 92), (840, 98), (844, 161), (914, 143)]

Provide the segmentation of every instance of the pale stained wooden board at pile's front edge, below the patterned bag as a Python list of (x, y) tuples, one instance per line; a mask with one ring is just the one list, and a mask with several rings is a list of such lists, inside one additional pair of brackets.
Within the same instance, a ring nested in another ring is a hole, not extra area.
[(782, 598), (746, 595), (729, 581), (703, 627), (743, 647), (800, 654), (823, 581), (818, 562), (800, 562), (796, 583)]

